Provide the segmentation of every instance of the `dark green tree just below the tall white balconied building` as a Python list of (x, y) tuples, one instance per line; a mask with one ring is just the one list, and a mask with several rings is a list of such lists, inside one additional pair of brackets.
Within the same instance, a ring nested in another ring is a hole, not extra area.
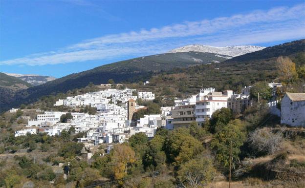
[(218, 132), (222, 127), (227, 125), (231, 120), (233, 120), (233, 113), (230, 108), (221, 108), (216, 110), (209, 122), (209, 131), (211, 133)]

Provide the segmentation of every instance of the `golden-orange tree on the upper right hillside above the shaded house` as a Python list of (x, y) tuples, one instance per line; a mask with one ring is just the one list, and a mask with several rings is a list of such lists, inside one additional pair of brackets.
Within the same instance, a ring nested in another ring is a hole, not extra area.
[(282, 76), (282, 79), (285, 82), (292, 82), (298, 77), (295, 63), (293, 63), (290, 58), (280, 56), (277, 59), (276, 65), (280, 75)]

